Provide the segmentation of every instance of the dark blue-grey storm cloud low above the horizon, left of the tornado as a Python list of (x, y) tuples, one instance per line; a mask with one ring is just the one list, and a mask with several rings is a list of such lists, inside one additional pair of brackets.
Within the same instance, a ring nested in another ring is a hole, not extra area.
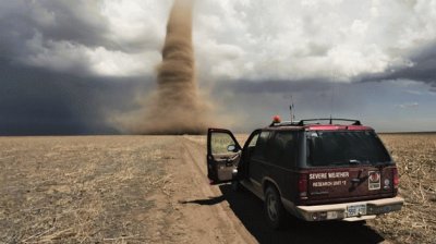
[(0, 59), (0, 135), (112, 134), (108, 112), (129, 110), (146, 78), (84, 78)]

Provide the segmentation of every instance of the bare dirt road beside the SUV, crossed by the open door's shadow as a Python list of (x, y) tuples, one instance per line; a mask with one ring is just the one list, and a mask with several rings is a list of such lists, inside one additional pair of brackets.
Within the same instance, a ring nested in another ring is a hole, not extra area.
[(186, 243), (255, 243), (234, 216), (226, 196), (206, 178), (204, 145), (177, 139), (177, 160), (166, 166), (167, 200), (175, 209), (173, 223), (183, 229), (177, 240)]

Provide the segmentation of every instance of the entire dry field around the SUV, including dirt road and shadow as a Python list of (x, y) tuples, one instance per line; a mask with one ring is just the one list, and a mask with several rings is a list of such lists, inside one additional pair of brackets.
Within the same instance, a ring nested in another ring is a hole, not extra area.
[(207, 184), (204, 136), (0, 137), (0, 243), (436, 243), (436, 134), (382, 137), (400, 212), (284, 232), (254, 196)]

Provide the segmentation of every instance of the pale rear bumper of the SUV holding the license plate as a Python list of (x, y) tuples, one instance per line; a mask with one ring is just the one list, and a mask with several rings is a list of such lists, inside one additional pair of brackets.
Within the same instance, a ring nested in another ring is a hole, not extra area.
[[(306, 221), (374, 219), (377, 215), (399, 211), (404, 203), (401, 197), (362, 200), (343, 204), (294, 206), (292, 211)], [(366, 207), (364, 207), (366, 206)], [(358, 210), (355, 210), (358, 209)], [(354, 212), (354, 213), (352, 213)]]

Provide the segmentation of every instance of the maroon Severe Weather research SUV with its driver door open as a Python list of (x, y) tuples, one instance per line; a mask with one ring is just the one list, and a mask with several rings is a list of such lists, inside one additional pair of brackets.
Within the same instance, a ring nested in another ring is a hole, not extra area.
[(255, 130), (243, 147), (230, 131), (209, 129), (207, 170), (211, 184), (232, 182), (263, 199), (275, 229), (286, 211), (305, 221), (359, 221), (403, 204), (396, 163), (356, 120), (276, 122)]

